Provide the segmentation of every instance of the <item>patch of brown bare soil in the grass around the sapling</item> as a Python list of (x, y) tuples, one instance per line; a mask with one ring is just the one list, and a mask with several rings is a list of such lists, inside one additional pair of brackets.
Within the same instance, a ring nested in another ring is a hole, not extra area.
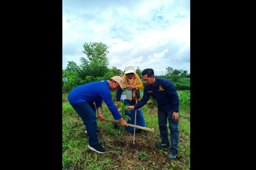
[[(115, 158), (115, 166), (113, 169), (123, 169), (123, 167), (128, 167), (129, 169), (136, 168), (141, 162), (147, 163), (147, 166), (150, 166), (150, 169), (168, 169), (164, 165), (168, 162), (172, 165), (174, 161), (179, 161), (180, 158), (174, 160), (169, 160), (165, 155), (170, 151), (165, 148), (158, 148), (155, 146), (155, 143), (158, 142), (157, 139), (153, 138), (153, 133), (147, 132), (147, 134), (138, 133), (135, 134), (135, 141), (133, 144), (133, 135), (129, 132), (124, 132), (123, 136), (120, 138), (113, 136), (112, 139), (109, 139), (104, 133), (98, 133), (99, 139), (103, 139), (101, 145), (106, 149), (107, 153), (113, 155)], [(163, 152), (159, 152), (159, 150)], [(148, 157), (146, 160), (142, 160), (139, 157), (140, 153), (146, 152)], [(96, 152), (88, 150), (87, 154), (95, 154)], [(97, 158), (99, 160), (104, 160), (103, 154), (97, 153)], [(180, 162), (181, 163), (181, 162)], [(185, 164), (184, 164), (185, 166)], [(148, 169), (148, 167), (145, 167)]]

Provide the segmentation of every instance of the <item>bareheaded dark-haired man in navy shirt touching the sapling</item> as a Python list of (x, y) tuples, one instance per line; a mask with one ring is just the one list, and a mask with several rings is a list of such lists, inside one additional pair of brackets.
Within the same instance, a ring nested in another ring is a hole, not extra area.
[[(156, 143), (156, 146), (170, 149), (170, 153), (166, 156), (174, 159), (178, 153), (179, 143), (179, 96), (173, 83), (166, 78), (156, 78), (153, 69), (145, 69), (141, 75), (146, 83), (143, 98), (137, 104), (128, 107), (132, 110), (140, 108), (148, 102), (150, 96), (156, 99), (158, 125), (162, 137), (162, 142)], [(171, 131), (172, 148), (168, 139), (167, 119)]]

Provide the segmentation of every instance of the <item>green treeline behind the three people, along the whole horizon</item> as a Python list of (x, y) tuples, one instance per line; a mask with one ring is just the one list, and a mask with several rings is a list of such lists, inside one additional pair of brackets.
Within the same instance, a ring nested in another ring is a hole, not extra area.
[[(107, 45), (101, 42), (90, 42), (90, 44), (85, 42), (83, 53), (87, 55), (88, 59), (81, 57), (80, 66), (77, 66), (73, 61), (68, 61), (67, 68), (62, 70), (62, 77), (68, 78), (67, 82), (62, 83), (62, 91), (70, 92), (78, 85), (93, 81), (108, 80), (113, 76), (124, 75), (124, 71), (114, 66), (111, 69), (108, 68), (109, 63), (106, 55), (109, 52), (107, 48)], [(156, 75), (156, 77), (171, 80), (177, 90), (190, 90), (190, 78), (186, 77), (188, 75), (187, 70), (173, 70), (172, 67), (167, 67), (166, 70), (165, 75)], [(140, 76), (143, 85), (145, 85), (142, 80), (141, 72), (142, 70), (137, 67), (136, 73)]]

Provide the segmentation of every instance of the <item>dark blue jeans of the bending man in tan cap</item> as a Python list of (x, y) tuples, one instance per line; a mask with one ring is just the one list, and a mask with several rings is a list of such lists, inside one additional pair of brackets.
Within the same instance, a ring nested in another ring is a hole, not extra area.
[[(70, 103), (71, 104), (71, 103)], [(82, 118), (86, 126), (88, 143), (90, 146), (98, 144), (96, 107), (93, 103), (84, 101), (82, 103), (71, 104), (77, 114)]]

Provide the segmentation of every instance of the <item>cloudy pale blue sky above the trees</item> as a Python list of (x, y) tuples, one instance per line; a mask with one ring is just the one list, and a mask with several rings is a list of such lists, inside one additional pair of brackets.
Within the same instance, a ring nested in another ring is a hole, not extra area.
[(190, 0), (63, 0), (62, 69), (87, 58), (85, 42), (107, 45), (108, 68), (190, 73)]

